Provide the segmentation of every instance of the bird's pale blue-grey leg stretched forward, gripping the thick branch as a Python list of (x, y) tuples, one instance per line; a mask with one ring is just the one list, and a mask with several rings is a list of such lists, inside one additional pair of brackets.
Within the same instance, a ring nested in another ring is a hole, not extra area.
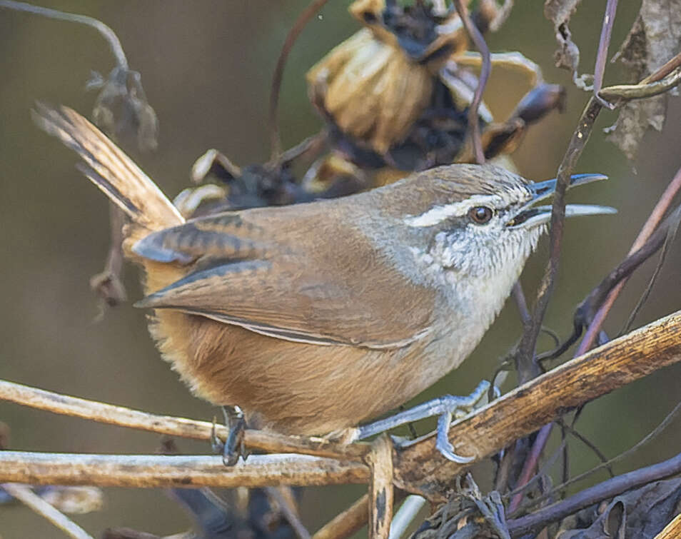
[(462, 457), (454, 453), (454, 448), (449, 443), (449, 425), (452, 418), (463, 417), (472, 411), (476, 405), (483, 401), (490, 388), (490, 383), (483, 380), (478, 387), (468, 396), (445, 395), (434, 398), (432, 401), (425, 402), (405, 410), (404, 412), (391, 415), (389, 418), (380, 419), (374, 423), (363, 425), (358, 428), (358, 440), (368, 438), (374, 434), (382, 433), (404, 423), (411, 423), (420, 419), (430, 418), (439, 415), (438, 418), (438, 437), (435, 446), (445, 458), (453, 460), (455, 463), (465, 464), (473, 460), (473, 457)]

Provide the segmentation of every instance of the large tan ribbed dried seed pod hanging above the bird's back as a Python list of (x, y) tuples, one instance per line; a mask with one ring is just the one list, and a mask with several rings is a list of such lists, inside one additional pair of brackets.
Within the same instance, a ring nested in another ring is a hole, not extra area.
[(447, 19), (423, 4), (350, 6), (366, 28), (336, 46), (307, 74), (321, 114), (379, 155), (403, 142), (430, 103), (435, 76), (468, 40), (458, 15)]

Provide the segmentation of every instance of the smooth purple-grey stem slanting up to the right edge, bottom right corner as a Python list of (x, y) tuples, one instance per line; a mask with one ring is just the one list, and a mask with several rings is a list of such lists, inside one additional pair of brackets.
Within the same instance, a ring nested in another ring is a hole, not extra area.
[(660, 480), (670, 475), (681, 472), (681, 453), (669, 460), (640, 468), (633, 472), (617, 475), (580, 493), (567, 498), (559, 503), (535, 511), (531, 515), (513, 518), (507, 521), (508, 530), (513, 537), (519, 537), (528, 533), (536, 533), (545, 525), (557, 522), (567, 515), (572, 515), (578, 510), (588, 507), (601, 500), (612, 498), (618, 494), (633, 488), (646, 485), (652, 481)]

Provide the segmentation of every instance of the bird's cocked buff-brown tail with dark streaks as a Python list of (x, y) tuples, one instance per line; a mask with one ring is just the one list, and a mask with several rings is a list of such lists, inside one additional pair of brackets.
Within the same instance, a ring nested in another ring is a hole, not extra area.
[(73, 109), (37, 104), (34, 120), (81, 156), (79, 170), (133, 221), (148, 231), (184, 222), (184, 218), (131, 158)]

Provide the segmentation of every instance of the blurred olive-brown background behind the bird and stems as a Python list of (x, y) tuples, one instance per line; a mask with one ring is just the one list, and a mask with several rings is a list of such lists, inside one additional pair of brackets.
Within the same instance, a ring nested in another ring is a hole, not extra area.
[[(189, 168), (207, 148), (220, 148), (239, 165), (266, 161), (267, 104), (271, 74), (296, 16), (307, 0), (146, 2), (44, 1), (55, 9), (94, 16), (118, 34), (131, 69), (141, 73), (160, 125), (158, 150), (138, 158), (163, 191), (175, 196), (188, 186)], [(639, 2), (622, 2), (610, 54), (627, 34)], [(333, 46), (358, 29), (348, 1), (331, 0), (306, 27), (286, 66), (281, 94), (285, 147), (315, 133), (321, 119), (306, 96), (304, 74)], [(572, 19), (582, 52), (580, 70), (592, 72), (605, 0), (584, 3)], [(567, 141), (587, 101), (565, 71), (553, 67), (553, 26), (543, 2), (519, 2), (496, 34), (492, 51), (518, 50), (542, 66), (546, 81), (567, 87), (565, 114), (552, 113), (530, 127), (513, 154), (520, 173), (555, 176)], [(211, 420), (218, 413), (193, 398), (148, 336), (145, 313), (130, 303), (109, 309), (101, 321), (89, 278), (101, 271), (109, 248), (109, 209), (104, 196), (74, 169), (76, 158), (36, 129), (29, 111), (36, 100), (66, 104), (89, 116), (96, 91), (86, 91), (91, 71), (113, 67), (108, 47), (93, 30), (0, 9), (0, 378), (153, 413)], [(621, 82), (608, 65), (605, 84)], [(520, 77), (493, 73), (485, 95), (505, 119), (527, 87)], [(610, 181), (572, 193), (571, 200), (618, 208), (616, 216), (581, 218), (567, 226), (558, 286), (546, 325), (567, 336), (579, 301), (625, 256), (660, 193), (681, 165), (681, 101), (672, 99), (662, 133), (648, 134), (638, 158), (627, 161), (605, 141), (602, 128), (615, 121), (604, 112), (578, 172), (600, 172)], [(578, 198), (578, 200), (577, 200)], [(677, 240), (635, 326), (681, 308), (681, 253)], [(528, 298), (547, 256), (546, 242), (523, 273)], [(615, 304), (606, 330), (617, 334), (645, 287), (654, 263), (637, 272)], [(126, 268), (132, 301), (141, 297), (137, 272)], [(417, 400), (443, 393), (469, 393), (489, 378), (498, 359), (520, 336), (513, 302), (483, 343), (455, 373)], [(540, 341), (550, 346), (550, 341)], [(681, 366), (659, 371), (587, 405), (580, 432), (607, 456), (629, 448), (665, 417), (681, 396)], [(510, 377), (513, 379), (513, 376)], [(505, 390), (510, 388), (510, 383)], [(11, 428), (14, 450), (92, 453), (153, 453), (156, 435), (98, 425), (0, 402), (0, 420)], [(679, 420), (653, 443), (615, 466), (623, 472), (676, 454)], [(423, 433), (425, 428), (420, 427)], [(177, 440), (186, 453), (209, 453), (208, 444)], [(596, 463), (571, 443), (572, 471)], [(488, 468), (488, 467), (487, 467)], [(478, 470), (484, 485), (487, 468)], [(591, 482), (605, 475), (595, 475)], [(580, 488), (587, 485), (581, 483)], [(361, 486), (310, 489), (303, 493), (303, 522), (315, 530), (364, 491)], [(94, 535), (128, 526), (159, 535), (189, 526), (185, 513), (159, 490), (106, 489), (106, 507), (75, 520)], [(59, 532), (21, 505), (0, 506), (3, 539), (59, 537)], [(364, 535), (364, 534), (360, 534)]]

